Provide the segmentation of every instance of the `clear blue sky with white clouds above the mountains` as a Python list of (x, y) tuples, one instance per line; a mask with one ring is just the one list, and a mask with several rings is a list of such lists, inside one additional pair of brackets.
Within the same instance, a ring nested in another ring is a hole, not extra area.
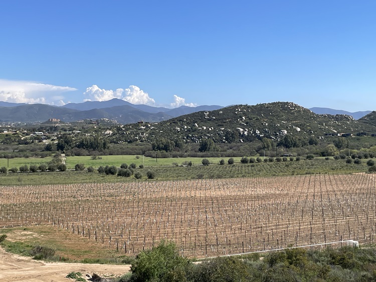
[(375, 1), (2, 1), (0, 100), (376, 110)]

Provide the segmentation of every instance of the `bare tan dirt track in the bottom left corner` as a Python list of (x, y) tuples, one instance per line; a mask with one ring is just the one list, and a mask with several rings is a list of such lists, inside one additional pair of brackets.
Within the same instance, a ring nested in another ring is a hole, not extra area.
[(81, 272), (83, 277), (90, 281), (94, 272), (101, 277), (113, 277), (120, 276), (128, 272), (129, 269), (130, 265), (38, 261), (30, 257), (8, 253), (0, 247), (0, 281), (73, 281), (73, 279), (65, 277), (72, 271)]

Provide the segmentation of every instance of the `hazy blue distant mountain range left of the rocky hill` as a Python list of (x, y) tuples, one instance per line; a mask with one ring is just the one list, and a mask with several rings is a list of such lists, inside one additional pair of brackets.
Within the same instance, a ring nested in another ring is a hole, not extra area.
[(44, 122), (49, 118), (57, 118), (65, 122), (100, 118), (108, 118), (120, 123), (135, 123), (141, 120), (158, 122), (182, 114), (220, 108), (222, 106), (204, 105), (198, 107), (180, 106), (169, 109), (148, 105), (134, 105), (116, 98), (103, 102), (69, 103), (61, 107), (45, 104), (0, 102), (0, 122)]

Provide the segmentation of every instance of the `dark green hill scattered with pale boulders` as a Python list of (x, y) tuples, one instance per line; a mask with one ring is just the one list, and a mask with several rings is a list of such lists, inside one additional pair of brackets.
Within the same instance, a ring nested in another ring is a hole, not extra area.
[(355, 120), (349, 115), (315, 114), (292, 102), (273, 102), (200, 111), (159, 123), (129, 124), (121, 131), (118, 142), (150, 141), (164, 137), (197, 143), (202, 138), (210, 137), (221, 143), (230, 139), (234, 142), (262, 137), (280, 139), (286, 134), (319, 138), (342, 133), (376, 133), (376, 125)]

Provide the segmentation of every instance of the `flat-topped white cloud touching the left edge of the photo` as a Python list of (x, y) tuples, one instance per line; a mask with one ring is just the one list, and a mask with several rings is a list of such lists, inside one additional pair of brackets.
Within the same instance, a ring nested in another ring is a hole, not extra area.
[(0, 100), (12, 103), (64, 105), (64, 92), (76, 88), (33, 81), (0, 79)]

